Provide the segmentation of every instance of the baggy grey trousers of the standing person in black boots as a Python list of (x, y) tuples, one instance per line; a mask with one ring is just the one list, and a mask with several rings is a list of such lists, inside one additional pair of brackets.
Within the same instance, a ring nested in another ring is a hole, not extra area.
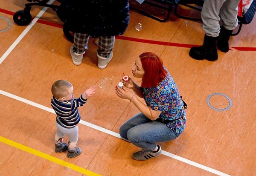
[(217, 37), (220, 33), (219, 21), (225, 29), (233, 30), (238, 25), (237, 12), (240, 0), (205, 0), (201, 12), (206, 35)]

